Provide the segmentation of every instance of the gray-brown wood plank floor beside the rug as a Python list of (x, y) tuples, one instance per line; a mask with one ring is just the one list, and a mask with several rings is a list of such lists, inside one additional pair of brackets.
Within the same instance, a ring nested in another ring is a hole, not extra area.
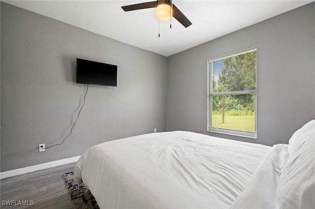
[[(0, 180), (1, 209), (73, 209), (63, 174), (74, 170), (70, 163)], [(3, 201), (33, 201), (33, 206), (3, 206)]]

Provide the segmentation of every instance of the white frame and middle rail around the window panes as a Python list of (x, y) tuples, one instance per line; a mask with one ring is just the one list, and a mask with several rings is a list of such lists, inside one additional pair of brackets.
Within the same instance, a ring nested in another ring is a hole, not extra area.
[[(230, 91), (230, 92), (212, 92), (213, 88), (213, 79), (212, 79), (212, 74), (213, 74), (213, 65), (214, 61), (216, 60), (222, 60), (224, 58), (232, 57), (232, 56), (237, 56), (240, 54), (245, 54), (248, 52), (256, 51), (256, 88), (255, 90), (246, 90), (246, 91)], [(212, 62), (212, 64), (210, 64)], [(211, 66), (211, 67), (210, 67)], [(257, 138), (257, 47), (253, 47), (250, 49), (242, 50), (239, 52), (235, 53), (230, 53), (227, 55), (223, 55), (220, 57), (216, 57), (213, 59), (207, 60), (207, 131), (209, 132), (214, 132), (214, 133), (221, 133), (221, 134), (228, 134), (228, 135), (233, 135), (233, 136), (241, 136), (241, 137), (247, 137), (247, 138), (252, 138), (256, 139)], [(234, 129), (224, 129), (224, 128), (216, 128), (212, 127), (212, 96), (218, 96), (218, 95), (232, 95), (232, 94), (250, 94), (254, 93), (255, 94), (255, 132), (247, 132), (247, 131), (239, 131), (239, 130), (234, 130)]]

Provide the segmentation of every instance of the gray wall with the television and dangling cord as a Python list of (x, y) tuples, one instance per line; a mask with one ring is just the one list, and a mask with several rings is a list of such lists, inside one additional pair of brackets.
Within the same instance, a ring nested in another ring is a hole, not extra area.
[[(1, 172), (166, 130), (167, 59), (1, 2)], [(76, 84), (76, 58), (118, 65), (118, 86)]]

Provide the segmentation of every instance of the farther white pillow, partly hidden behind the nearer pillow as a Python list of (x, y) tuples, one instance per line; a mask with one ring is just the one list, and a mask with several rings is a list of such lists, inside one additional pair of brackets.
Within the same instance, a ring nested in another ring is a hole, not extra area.
[(289, 140), (289, 147), (287, 149), (289, 153), (289, 157), (293, 157), (293, 155), (302, 147), (305, 140), (314, 135), (315, 132), (315, 120), (311, 120), (310, 122), (303, 125), (302, 128), (295, 131), (292, 137)]

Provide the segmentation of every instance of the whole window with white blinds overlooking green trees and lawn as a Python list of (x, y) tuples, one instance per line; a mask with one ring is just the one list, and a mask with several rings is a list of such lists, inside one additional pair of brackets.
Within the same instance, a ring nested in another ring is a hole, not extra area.
[(208, 60), (208, 131), (256, 138), (256, 48)]

